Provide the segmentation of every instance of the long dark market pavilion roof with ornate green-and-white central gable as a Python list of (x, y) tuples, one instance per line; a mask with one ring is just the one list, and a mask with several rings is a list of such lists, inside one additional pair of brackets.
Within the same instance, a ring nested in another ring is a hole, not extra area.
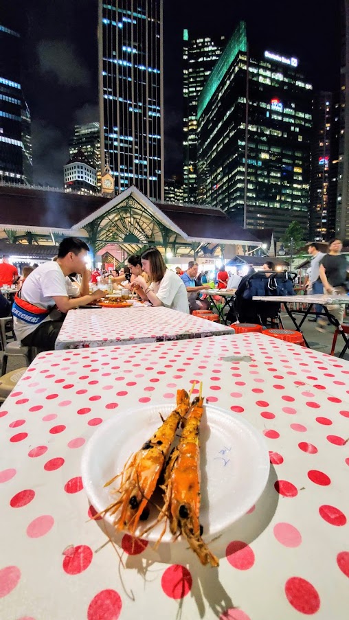
[(56, 244), (67, 235), (88, 238), (94, 253), (108, 243), (126, 253), (155, 245), (175, 255), (212, 255), (226, 244), (260, 246), (221, 209), (155, 203), (134, 186), (110, 199), (0, 185), (0, 240)]

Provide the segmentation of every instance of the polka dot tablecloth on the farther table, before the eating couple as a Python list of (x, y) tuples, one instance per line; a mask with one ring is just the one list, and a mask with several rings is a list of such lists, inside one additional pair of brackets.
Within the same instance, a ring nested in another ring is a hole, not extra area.
[(89, 308), (68, 312), (56, 349), (110, 347), (205, 336), (232, 336), (231, 328), (170, 308)]

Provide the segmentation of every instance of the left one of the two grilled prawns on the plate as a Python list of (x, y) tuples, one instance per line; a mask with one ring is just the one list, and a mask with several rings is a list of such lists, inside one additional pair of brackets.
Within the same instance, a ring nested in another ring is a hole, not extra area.
[(104, 485), (110, 485), (121, 476), (120, 487), (114, 491), (120, 497), (101, 513), (115, 514), (121, 508), (120, 516), (115, 518), (114, 522), (117, 531), (126, 529), (131, 534), (135, 533), (139, 519), (142, 518), (142, 513), (155, 491), (179, 422), (183, 420), (188, 409), (188, 393), (185, 390), (178, 390), (176, 409), (163, 421), (153, 437), (150, 437), (138, 452), (131, 455), (124, 470)]

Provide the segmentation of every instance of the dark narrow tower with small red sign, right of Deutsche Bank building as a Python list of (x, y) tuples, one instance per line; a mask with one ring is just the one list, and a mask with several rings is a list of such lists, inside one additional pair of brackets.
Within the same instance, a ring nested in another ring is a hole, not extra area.
[(326, 241), (335, 234), (338, 108), (333, 93), (314, 95), (309, 223), (309, 238), (314, 241)]

